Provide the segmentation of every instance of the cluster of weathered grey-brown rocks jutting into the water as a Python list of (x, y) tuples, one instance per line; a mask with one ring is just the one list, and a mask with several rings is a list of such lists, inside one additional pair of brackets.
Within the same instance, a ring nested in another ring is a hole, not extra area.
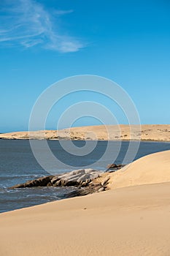
[(106, 178), (102, 178), (101, 181), (100, 177), (103, 174), (101, 171), (93, 169), (73, 170), (69, 173), (36, 178), (32, 181), (10, 187), (10, 189), (26, 187), (75, 187), (75, 191), (69, 193), (66, 197), (88, 195), (107, 189), (109, 178), (106, 175)]

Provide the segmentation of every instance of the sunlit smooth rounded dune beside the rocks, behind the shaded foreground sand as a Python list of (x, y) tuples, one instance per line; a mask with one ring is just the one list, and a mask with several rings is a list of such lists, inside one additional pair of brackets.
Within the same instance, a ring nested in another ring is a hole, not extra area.
[(112, 173), (111, 189), (170, 182), (170, 151), (150, 154)]

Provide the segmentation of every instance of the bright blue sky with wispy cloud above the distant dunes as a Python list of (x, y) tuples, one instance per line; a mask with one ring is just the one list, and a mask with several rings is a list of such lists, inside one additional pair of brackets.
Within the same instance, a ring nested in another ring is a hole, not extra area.
[[(142, 124), (170, 124), (168, 0), (1, 0), (0, 58), (0, 132), (28, 130), (39, 95), (74, 75), (115, 81), (134, 101)], [(110, 107), (125, 124), (116, 105), (97, 95), (63, 99), (47, 117), (47, 129), (84, 100)], [(82, 116), (73, 126), (93, 124), (100, 121)]]

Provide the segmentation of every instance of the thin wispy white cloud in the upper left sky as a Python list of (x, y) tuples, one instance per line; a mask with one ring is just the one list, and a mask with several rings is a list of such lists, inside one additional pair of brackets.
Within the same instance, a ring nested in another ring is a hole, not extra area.
[[(3, 1), (2, 1), (3, 2)], [(80, 40), (66, 36), (58, 27), (58, 18), (72, 10), (47, 11), (34, 0), (4, 1), (0, 13), (0, 44), (75, 52), (85, 47)], [(60, 31), (60, 32), (59, 32)]]

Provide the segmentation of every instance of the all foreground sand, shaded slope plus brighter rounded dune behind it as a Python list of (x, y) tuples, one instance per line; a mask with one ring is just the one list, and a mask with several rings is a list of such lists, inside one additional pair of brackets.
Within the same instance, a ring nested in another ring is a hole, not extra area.
[(170, 151), (109, 175), (109, 191), (0, 214), (1, 256), (169, 256)]

